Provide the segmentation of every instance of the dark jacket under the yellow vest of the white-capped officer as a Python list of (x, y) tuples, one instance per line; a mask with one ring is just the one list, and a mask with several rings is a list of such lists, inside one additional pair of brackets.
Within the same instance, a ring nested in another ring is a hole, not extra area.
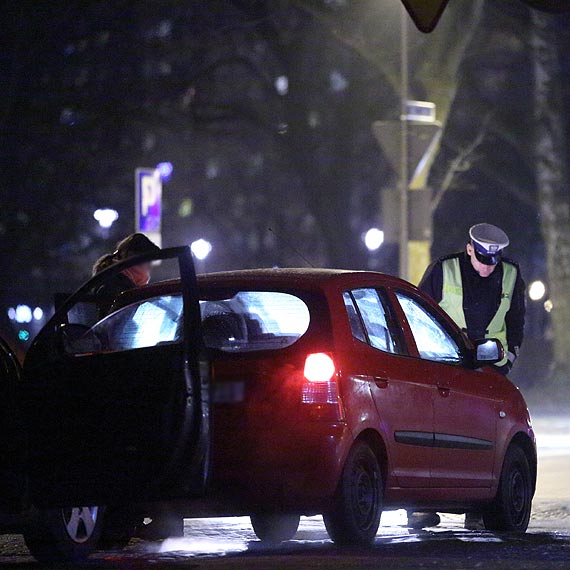
[[(419, 284), (419, 288), (437, 303), (441, 301), (443, 295), (442, 263), (446, 259), (453, 258), (459, 259), (461, 268), (463, 311), (467, 323), (467, 335), (473, 340), (483, 338), (501, 301), (503, 266), (499, 263), (489, 277), (481, 277), (473, 268), (471, 259), (466, 252), (455, 253), (438, 259), (427, 268)], [(503, 258), (503, 262), (510, 263), (517, 268), (517, 280), (511, 299), (511, 308), (506, 317), (507, 343), (509, 348), (513, 350), (514, 347), (522, 345), (524, 337), (526, 287), (518, 265), (505, 258)]]

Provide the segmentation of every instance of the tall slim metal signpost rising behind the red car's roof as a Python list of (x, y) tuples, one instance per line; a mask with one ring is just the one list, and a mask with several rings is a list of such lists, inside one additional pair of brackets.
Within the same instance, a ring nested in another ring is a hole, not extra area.
[(409, 279), (408, 267), (408, 14), (400, 8), (400, 235), (399, 273), (402, 279)]

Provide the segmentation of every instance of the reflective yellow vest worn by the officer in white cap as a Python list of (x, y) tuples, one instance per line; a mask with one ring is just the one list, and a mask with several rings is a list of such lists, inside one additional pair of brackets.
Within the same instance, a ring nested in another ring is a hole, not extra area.
[[(506, 317), (511, 308), (511, 299), (517, 281), (517, 268), (505, 261), (503, 264), (503, 290), (501, 292), (501, 302), (495, 316), (491, 319), (486, 338), (496, 338), (501, 341), (505, 349), (505, 358), (497, 362), (497, 366), (504, 366), (507, 363), (507, 322)], [(463, 281), (461, 279), (461, 267), (459, 259), (454, 257), (445, 259), (442, 263), (443, 269), (443, 291), (440, 307), (457, 323), (462, 329), (467, 329), (465, 311), (463, 310)]]

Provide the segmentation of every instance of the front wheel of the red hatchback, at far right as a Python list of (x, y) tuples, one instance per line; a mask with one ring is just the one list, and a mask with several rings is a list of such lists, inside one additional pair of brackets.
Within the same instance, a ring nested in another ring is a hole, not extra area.
[(483, 513), (485, 528), (525, 532), (532, 509), (532, 475), (524, 451), (511, 445), (505, 454), (499, 489), (491, 508)]

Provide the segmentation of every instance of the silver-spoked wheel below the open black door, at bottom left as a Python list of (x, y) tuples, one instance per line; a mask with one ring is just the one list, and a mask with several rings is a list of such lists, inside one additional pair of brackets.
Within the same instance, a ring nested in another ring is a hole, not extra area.
[(104, 510), (40, 509), (24, 531), (26, 546), (40, 562), (84, 562), (98, 546)]

